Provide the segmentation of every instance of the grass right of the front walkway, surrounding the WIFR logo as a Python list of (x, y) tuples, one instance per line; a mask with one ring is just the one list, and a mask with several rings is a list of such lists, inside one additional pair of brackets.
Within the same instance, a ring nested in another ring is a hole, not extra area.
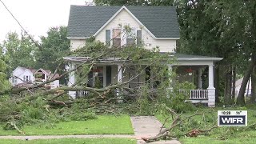
[[(190, 127), (194, 127), (194, 129), (208, 129), (211, 126), (214, 126), (218, 124), (217, 122), (217, 111), (218, 110), (247, 110), (247, 126), (253, 125), (256, 123), (256, 108), (254, 107), (232, 107), (232, 108), (222, 108), (222, 107), (216, 107), (216, 108), (208, 108), (208, 107), (201, 107), (196, 108), (198, 110), (198, 113), (204, 111), (204, 116), (195, 116), (193, 118), (190, 118)], [(183, 116), (192, 115), (195, 113), (195, 110), (192, 112), (186, 112), (183, 113)], [(166, 119), (166, 116), (163, 114), (156, 114), (155, 115), (160, 122), (164, 122)], [(170, 126), (171, 118), (167, 120), (166, 126)], [(176, 127), (182, 129), (181, 127)], [(248, 128), (248, 127), (247, 127)], [(208, 136), (198, 136), (195, 138), (190, 137), (181, 137), (179, 138), (179, 141), (184, 144), (194, 144), (194, 143), (210, 143), (210, 144), (233, 144), (233, 143), (242, 143), (242, 144), (254, 144), (256, 143), (256, 126), (254, 128), (248, 128), (245, 130), (246, 127), (218, 127), (210, 132), (210, 135)], [(178, 133), (177, 133), (178, 134)], [(184, 133), (182, 133), (184, 134)]]

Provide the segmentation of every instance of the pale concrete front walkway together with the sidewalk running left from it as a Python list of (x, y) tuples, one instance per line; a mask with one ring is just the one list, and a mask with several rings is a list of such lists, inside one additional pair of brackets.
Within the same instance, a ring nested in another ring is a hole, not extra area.
[[(136, 138), (138, 144), (146, 143), (142, 138), (158, 134), (162, 123), (153, 116), (131, 117), (134, 134), (98, 134), (98, 135), (33, 135), (33, 136), (0, 136), (0, 139), (51, 139), (51, 138)], [(176, 140), (150, 142), (152, 144), (180, 144)]]

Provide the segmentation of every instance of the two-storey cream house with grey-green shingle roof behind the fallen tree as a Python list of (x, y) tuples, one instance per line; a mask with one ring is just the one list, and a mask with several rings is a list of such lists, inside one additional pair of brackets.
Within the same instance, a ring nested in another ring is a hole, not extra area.
[[(122, 31), (120, 26), (130, 26), (134, 37), (118, 35)], [(178, 62), (171, 63), (169, 69), (173, 70), (173, 67), (177, 67), (176, 72), (180, 81), (194, 82), (194, 79), (197, 79), (194, 84), (198, 90), (189, 91), (191, 102), (215, 106), (214, 62), (222, 58), (175, 53), (176, 42), (180, 36), (174, 6), (70, 6), (67, 36), (70, 39), (70, 49), (77, 50), (85, 46), (86, 38), (91, 36), (108, 46), (126, 46), (140, 42), (144, 43), (146, 49), (158, 46), (160, 52), (169, 53), (170, 58), (177, 58)], [(88, 58), (66, 57), (65, 59), (70, 62), (70, 68), (74, 68), (76, 64)], [(115, 64), (111, 60), (115, 60)], [(101, 62), (100, 66), (96, 66), (97, 70), (88, 74), (88, 77), (92, 78), (97, 73), (101, 77), (102, 86), (117, 81), (122, 82), (123, 76), (129, 78), (129, 74), (122, 70), (122, 62), (117, 64), (117, 59), (114, 58), (108, 58), (108, 61)], [(202, 78), (204, 78), (202, 70), (206, 67), (208, 67), (208, 80), (204, 86), (208, 88), (202, 90)], [(114, 78), (115, 75), (118, 75), (117, 79)], [(70, 74), (69, 81), (69, 86), (75, 82), (74, 72)], [(94, 84), (88, 82), (87, 85)], [(78, 96), (78, 93), (73, 91), (69, 94), (72, 98)]]

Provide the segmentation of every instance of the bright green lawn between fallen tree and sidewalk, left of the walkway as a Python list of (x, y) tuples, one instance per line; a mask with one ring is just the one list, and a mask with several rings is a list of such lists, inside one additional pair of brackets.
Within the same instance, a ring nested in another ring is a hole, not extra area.
[[(134, 134), (128, 115), (100, 115), (98, 119), (86, 121), (59, 122), (51, 128), (46, 126), (25, 126), (26, 135), (67, 135), (67, 134)], [(0, 135), (19, 135), (16, 130), (2, 130)]]

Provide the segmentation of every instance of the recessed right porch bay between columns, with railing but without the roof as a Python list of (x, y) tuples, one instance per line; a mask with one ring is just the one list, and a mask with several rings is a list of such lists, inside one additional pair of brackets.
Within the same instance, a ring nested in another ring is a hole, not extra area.
[[(209, 66), (170, 66), (170, 69), (175, 72), (176, 77), (172, 81), (171, 86), (168, 88), (173, 91), (175, 88), (175, 82), (190, 82), (194, 85), (194, 88), (178, 89), (176, 93), (186, 94), (192, 103), (208, 103), (209, 98)], [(213, 78), (213, 77), (212, 77)], [(214, 90), (212, 86), (210, 90)]]

